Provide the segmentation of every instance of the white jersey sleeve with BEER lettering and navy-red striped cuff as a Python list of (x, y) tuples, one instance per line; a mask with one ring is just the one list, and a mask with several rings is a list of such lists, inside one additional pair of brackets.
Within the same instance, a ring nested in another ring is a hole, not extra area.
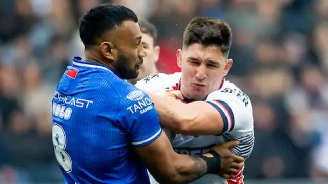
[(226, 88), (209, 94), (206, 101), (221, 114), (222, 133), (240, 134), (253, 131), (253, 108), (249, 97), (239, 89)]

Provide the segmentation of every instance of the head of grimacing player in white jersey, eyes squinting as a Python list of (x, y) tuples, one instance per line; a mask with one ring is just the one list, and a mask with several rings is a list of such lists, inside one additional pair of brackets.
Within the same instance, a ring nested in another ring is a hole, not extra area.
[(228, 59), (231, 39), (231, 28), (220, 19), (196, 17), (189, 22), (183, 48), (177, 51), (183, 95), (203, 100), (218, 89), (232, 66), (232, 59)]

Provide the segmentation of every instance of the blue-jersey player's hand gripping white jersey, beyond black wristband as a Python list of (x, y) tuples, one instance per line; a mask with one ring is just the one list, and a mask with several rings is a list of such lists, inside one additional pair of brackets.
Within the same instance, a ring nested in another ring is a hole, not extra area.
[(223, 178), (229, 178), (237, 173), (244, 166), (244, 158), (230, 151), (231, 148), (237, 146), (239, 141), (231, 140), (218, 144), (212, 148), (221, 157), (221, 169), (218, 173)]

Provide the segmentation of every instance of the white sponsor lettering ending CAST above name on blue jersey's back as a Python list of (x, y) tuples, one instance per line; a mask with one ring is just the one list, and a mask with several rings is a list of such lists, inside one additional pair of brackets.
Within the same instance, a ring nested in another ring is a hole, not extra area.
[(56, 101), (57, 104), (64, 103), (64, 104), (69, 104), (74, 107), (86, 108), (86, 109), (88, 109), (90, 104), (93, 103), (93, 101), (91, 101), (91, 100), (67, 96), (64, 94), (60, 94), (58, 91), (55, 92), (53, 99), (57, 100)]

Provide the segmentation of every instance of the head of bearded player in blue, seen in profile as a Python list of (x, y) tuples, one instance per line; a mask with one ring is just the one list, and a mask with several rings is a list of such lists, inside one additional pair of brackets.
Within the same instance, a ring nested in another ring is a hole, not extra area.
[(136, 78), (146, 56), (137, 22), (136, 14), (124, 6), (105, 3), (91, 8), (79, 27), (88, 59), (112, 66), (122, 78)]

